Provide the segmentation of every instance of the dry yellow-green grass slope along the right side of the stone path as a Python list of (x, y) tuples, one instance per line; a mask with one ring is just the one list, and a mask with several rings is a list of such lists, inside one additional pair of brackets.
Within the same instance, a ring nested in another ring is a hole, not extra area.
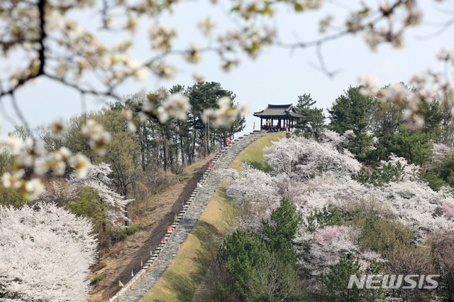
[[(248, 162), (255, 168), (267, 171), (269, 168), (262, 163), (263, 149), (284, 135), (271, 134), (253, 142), (236, 157), (231, 168), (239, 170), (243, 162)], [(211, 264), (214, 249), (229, 230), (229, 217), (233, 210), (226, 195), (227, 185), (226, 180), (218, 185), (172, 264), (140, 302), (192, 301)]]

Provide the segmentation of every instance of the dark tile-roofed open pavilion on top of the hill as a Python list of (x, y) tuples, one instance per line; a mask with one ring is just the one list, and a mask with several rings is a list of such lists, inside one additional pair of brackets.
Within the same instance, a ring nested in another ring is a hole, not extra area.
[[(260, 112), (254, 112), (254, 117), (260, 117), (260, 130), (292, 131), (294, 120), (303, 117), (292, 104), (268, 106)], [(265, 119), (265, 124), (263, 120)]]

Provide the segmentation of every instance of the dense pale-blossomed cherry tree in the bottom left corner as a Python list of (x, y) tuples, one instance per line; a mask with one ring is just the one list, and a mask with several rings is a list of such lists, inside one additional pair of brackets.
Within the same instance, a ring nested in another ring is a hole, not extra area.
[(53, 204), (0, 207), (0, 297), (86, 301), (96, 239), (92, 223)]

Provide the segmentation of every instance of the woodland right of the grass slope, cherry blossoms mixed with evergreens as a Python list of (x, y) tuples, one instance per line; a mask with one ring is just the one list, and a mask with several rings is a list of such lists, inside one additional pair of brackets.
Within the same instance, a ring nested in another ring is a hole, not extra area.
[[(265, 165), (224, 171), (236, 227), (210, 301), (454, 301), (452, 107), (421, 102), (411, 129), (405, 99), (362, 88), (327, 121), (299, 96), (294, 136), (266, 148)], [(375, 286), (358, 285), (367, 276)]]

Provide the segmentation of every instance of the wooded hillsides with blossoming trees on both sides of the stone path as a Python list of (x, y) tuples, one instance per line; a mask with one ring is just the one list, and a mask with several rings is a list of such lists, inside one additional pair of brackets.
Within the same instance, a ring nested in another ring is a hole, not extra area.
[[(419, 103), (424, 123), (416, 129), (404, 117), (405, 99), (382, 101), (362, 89), (348, 87), (328, 117), (311, 95), (300, 95), (295, 107), (303, 117), (291, 138), (265, 149), (260, 166), (223, 171), (235, 215), (210, 268), (211, 301), (453, 301), (452, 108), (443, 99)], [(187, 119), (140, 119), (147, 99), (160, 104), (176, 93), (189, 99)], [(53, 125), (16, 127), (1, 153), (1, 172), (10, 177), (0, 189), (0, 248), (9, 259), (0, 264), (0, 296), (65, 301), (72, 293), (68, 301), (85, 301), (90, 265), (138, 231), (128, 206), (165, 190), (185, 166), (243, 129), (242, 115), (230, 126), (201, 119), (223, 97), (236, 106), (219, 83), (177, 85), (74, 116), (59, 136)], [(90, 145), (86, 121), (94, 121), (90, 131), (102, 126), (110, 136)], [(14, 156), (16, 149), (39, 152), (28, 145), (31, 137), (54, 159), (30, 167)], [(70, 162), (59, 163), (69, 161), (65, 152), (92, 165), (78, 174)], [(14, 171), (38, 175), (42, 192), (21, 190)], [(67, 261), (74, 274), (62, 266)], [(60, 286), (52, 291), (54, 279), (34, 283), (55, 271)], [(362, 275), (391, 279), (389, 286), (348, 288), (353, 275), (358, 282)], [(417, 288), (405, 286), (417, 281)]]

